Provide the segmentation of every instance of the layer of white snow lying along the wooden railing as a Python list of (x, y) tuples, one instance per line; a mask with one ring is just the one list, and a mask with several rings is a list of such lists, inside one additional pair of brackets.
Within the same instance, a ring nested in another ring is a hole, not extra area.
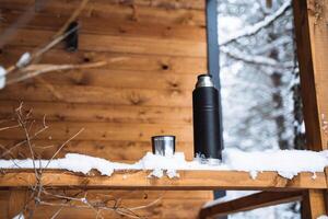
[[(151, 170), (150, 176), (178, 177), (179, 170), (211, 170), (211, 171), (244, 171), (249, 172), (251, 178), (258, 172), (277, 171), (281, 176), (293, 178), (300, 172), (324, 172), (328, 165), (328, 151), (315, 152), (305, 150), (266, 150), (245, 152), (238, 149), (225, 149), (220, 164), (203, 163), (199, 159), (186, 161), (183, 152), (172, 157), (156, 155), (148, 152), (140, 161), (128, 164), (112, 162), (102, 158), (94, 158), (79, 153), (68, 153), (65, 158), (39, 160), (35, 162), (39, 168), (68, 170), (87, 174), (97, 170), (102, 175), (110, 176), (119, 170)], [(0, 160), (1, 169), (33, 169), (33, 160)]]

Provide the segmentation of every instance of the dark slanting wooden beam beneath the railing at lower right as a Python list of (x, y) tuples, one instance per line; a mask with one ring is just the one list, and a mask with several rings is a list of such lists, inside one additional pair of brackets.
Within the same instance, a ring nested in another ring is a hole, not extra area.
[(261, 192), (234, 200), (219, 203), (200, 210), (199, 218), (226, 216), (229, 214), (253, 210), (302, 199), (302, 192)]

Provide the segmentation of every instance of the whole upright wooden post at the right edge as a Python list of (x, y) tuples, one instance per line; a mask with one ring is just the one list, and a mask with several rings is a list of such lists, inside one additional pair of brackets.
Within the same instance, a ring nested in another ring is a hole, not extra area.
[[(311, 150), (328, 147), (328, 15), (327, 2), (294, 0), (294, 19), (306, 143)], [(326, 215), (326, 192), (308, 189), (302, 203), (303, 218)]]

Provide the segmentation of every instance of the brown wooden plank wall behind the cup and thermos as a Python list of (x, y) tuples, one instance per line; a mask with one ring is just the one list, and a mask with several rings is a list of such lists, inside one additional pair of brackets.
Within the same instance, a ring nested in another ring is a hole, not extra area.
[[(48, 43), (79, 2), (48, 1), (1, 48), (0, 64), (15, 64), (23, 53)], [(34, 3), (0, 0), (0, 33)], [(97, 69), (48, 73), (40, 77), (45, 82), (33, 79), (8, 85), (0, 91), (1, 118), (20, 102), (33, 108), (38, 119), (46, 115), (50, 128), (35, 141), (43, 158), (50, 158), (61, 142), (85, 128), (60, 157), (79, 152), (134, 162), (151, 150), (151, 136), (169, 134), (177, 136), (177, 150), (191, 159), (191, 91), (196, 76), (207, 71), (203, 4), (203, 0), (90, 0), (79, 16), (79, 50), (68, 53), (59, 45), (40, 62), (126, 59)], [(17, 130), (0, 132), (0, 143), (7, 147), (20, 139)], [(43, 149), (49, 145), (55, 147)], [(14, 152), (28, 157), (27, 150)], [(130, 192), (113, 193), (125, 197)], [(133, 192), (126, 199), (134, 206), (144, 205), (144, 193)], [(149, 196), (156, 194), (160, 192)], [(166, 192), (163, 200), (147, 210), (151, 218), (192, 218), (211, 198), (210, 192)], [(79, 212), (67, 214), (73, 215), (63, 214), (62, 218), (77, 218)], [(90, 217), (83, 214), (79, 218), (83, 216)]]

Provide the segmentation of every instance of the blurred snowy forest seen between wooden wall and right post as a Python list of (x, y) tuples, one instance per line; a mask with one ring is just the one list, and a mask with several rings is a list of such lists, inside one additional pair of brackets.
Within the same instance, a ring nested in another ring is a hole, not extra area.
[[(290, 0), (219, 0), (224, 143), (245, 151), (302, 149), (304, 123)], [(227, 192), (234, 198), (250, 192)], [(288, 204), (231, 218), (300, 218)]]

